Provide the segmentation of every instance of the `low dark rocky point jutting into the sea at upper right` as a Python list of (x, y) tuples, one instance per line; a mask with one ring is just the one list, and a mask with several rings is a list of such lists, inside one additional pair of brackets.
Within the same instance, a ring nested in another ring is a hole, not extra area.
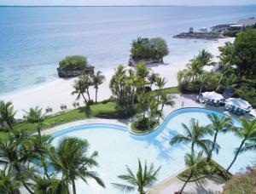
[(190, 39), (207, 39), (214, 40), (218, 38), (223, 38), (223, 36), (218, 32), (183, 32), (175, 35), (176, 38), (190, 38)]

